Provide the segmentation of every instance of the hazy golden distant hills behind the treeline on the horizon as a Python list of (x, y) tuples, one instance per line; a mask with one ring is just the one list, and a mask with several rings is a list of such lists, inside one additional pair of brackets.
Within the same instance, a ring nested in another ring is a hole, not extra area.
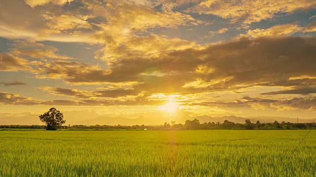
[[(200, 123), (204, 122), (223, 122), (224, 120), (233, 121), (235, 123), (244, 123), (245, 119), (249, 118), (251, 122), (255, 123), (259, 120), (261, 123), (274, 122), (277, 120), (278, 122), (297, 122), (296, 118), (287, 118), (287, 117), (266, 117), (266, 116), (258, 116), (258, 117), (236, 117), (234, 115), (231, 116), (223, 116), (223, 117), (211, 117), (207, 115), (190, 117), (186, 114), (182, 114), (181, 116), (166, 116), (163, 114), (157, 114), (155, 116), (139, 116), (137, 118), (124, 118), (119, 115), (98, 115), (94, 112), (87, 111), (76, 111), (76, 112), (64, 112), (64, 117), (66, 119), (66, 124), (82, 124), (82, 125), (161, 125), (164, 122), (171, 123), (171, 121), (176, 121), (176, 123), (185, 123), (186, 120), (193, 120), (197, 118)], [(299, 122), (316, 122), (316, 118), (314, 119), (301, 119), (299, 118)], [(34, 124), (43, 124), (40, 122), (39, 114), (35, 113), (0, 113), (0, 124), (8, 125), (8, 124), (20, 124), (20, 125), (34, 125)]]

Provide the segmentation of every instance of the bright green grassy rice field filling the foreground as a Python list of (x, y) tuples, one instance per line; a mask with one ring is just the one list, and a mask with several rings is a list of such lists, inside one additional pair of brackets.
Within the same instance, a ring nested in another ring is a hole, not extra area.
[(0, 131), (0, 177), (315, 177), (307, 132)]

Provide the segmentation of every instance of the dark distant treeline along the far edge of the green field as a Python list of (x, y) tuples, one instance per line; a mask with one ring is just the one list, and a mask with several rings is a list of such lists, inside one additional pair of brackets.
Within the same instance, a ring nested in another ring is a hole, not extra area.
[[(45, 129), (45, 125), (0, 125), (0, 129)], [(68, 125), (60, 126), (59, 129), (95, 129), (95, 130), (212, 130), (212, 129), (307, 129), (316, 128), (316, 123), (291, 123), (291, 122), (271, 122), (261, 123), (259, 120), (252, 123), (249, 119), (245, 123), (235, 123), (229, 120), (224, 122), (204, 122), (200, 123), (198, 119), (186, 120), (185, 124), (174, 121), (163, 125)]]

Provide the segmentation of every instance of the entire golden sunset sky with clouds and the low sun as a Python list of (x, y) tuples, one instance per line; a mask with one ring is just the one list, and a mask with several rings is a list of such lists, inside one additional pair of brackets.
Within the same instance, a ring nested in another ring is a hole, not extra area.
[(315, 36), (315, 0), (1, 0), (0, 115), (316, 118)]

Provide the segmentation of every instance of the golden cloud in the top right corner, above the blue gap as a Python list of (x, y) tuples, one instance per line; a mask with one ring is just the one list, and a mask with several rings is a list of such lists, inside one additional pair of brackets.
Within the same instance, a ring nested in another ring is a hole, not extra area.
[(212, 14), (232, 23), (242, 22), (245, 25), (272, 19), (279, 13), (291, 14), (296, 10), (315, 8), (313, 0), (291, 1), (288, 0), (203, 0), (188, 12), (199, 14)]

